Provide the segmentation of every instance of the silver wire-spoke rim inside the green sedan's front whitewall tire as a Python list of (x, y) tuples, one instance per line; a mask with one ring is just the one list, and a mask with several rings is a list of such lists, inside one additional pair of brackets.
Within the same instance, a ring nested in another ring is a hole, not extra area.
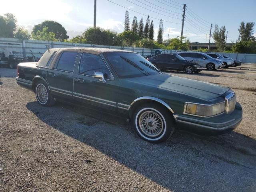
[(164, 122), (158, 113), (145, 111), (140, 115), (139, 127), (146, 136), (156, 137), (162, 133)]

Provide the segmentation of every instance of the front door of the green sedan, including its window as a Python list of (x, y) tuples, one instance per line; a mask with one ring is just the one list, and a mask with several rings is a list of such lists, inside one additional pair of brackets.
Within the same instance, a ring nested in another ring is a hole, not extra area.
[[(94, 78), (95, 72), (102, 72), (106, 81)], [(115, 111), (118, 85), (118, 78), (114, 78), (100, 55), (82, 53), (74, 75), (74, 101)]]

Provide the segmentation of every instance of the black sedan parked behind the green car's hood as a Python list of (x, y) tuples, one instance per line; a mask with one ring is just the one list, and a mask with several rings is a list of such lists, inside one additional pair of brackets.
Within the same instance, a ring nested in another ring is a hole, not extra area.
[(188, 74), (202, 71), (202, 66), (195, 62), (189, 62), (178, 54), (160, 54), (147, 58), (147, 60), (160, 70), (184, 71)]

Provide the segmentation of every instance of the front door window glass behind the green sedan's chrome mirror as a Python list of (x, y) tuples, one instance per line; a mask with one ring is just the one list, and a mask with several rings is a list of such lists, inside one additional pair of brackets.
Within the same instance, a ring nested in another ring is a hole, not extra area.
[(99, 55), (83, 53), (80, 60), (78, 73), (94, 76), (95, 72), (102, 72), (104, 74), (104, 78), (114, 80), (114, 77)]

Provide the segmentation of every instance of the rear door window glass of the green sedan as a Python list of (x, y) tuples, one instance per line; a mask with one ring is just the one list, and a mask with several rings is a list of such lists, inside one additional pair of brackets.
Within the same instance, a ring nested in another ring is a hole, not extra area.
[(58, 63), (54, 66), (54, 69), (73, 72), (77, 54), (78, 52), (62, 52)]

